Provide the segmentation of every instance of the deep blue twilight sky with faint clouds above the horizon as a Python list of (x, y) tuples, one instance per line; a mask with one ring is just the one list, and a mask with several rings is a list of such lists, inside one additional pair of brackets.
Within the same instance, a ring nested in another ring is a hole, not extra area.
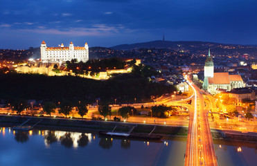
[(256, 0), (0, 0), (0, 48), (162, 39), (257, 44)]

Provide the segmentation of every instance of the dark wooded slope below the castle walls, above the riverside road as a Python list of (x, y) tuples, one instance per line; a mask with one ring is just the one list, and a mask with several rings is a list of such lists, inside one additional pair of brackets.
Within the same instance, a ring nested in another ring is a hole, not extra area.
[(78, 100), (87, 103), (103, 102), (114, 104), (150, 101), (151, 95), (175, 91), (171, 85), (149, 82), (139, 75), (125, 74), (107, 81), (90, 80), (82, 77), (48, 77), (33, 74), (0, 74), (0, 98), (5, 100)]

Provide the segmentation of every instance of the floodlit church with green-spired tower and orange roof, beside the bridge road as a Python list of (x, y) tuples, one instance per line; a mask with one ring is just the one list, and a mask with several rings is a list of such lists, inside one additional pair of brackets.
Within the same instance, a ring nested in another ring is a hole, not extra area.
[(235, 88), (245, 87), (240, 75), (229, 75), (229, 73), (214, 73), (213, 58), (209, 50), (209, 55), (206, 58), (204, 65), (204, 84), (202, 88), (205, 91), (215, 95), (218, 89), (230, 91)]

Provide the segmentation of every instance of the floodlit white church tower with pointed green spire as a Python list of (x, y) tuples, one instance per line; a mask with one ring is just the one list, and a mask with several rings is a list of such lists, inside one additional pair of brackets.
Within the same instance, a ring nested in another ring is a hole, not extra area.
[(213, 58), (211, 57), (210, 49), (208, 57), (206, 58), (205, 65), (204, 65), (204, 84), (202, 84), (202, 88), (208, 91), (209, 86), (209, 77), (213, 77), (214, 73), (214, 65), (213, 65)]

